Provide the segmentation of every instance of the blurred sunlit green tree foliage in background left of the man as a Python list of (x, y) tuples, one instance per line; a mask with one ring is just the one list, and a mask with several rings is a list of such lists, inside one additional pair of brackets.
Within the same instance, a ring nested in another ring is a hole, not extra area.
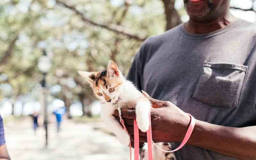
[[(146, 38), (164, 32), (161, 1), (135, 0), (128, 5), (105, 0), (61, 2), (74, 7), (86, 19), (118, 29), (121, 27), (132, 35)], [(52, 60), (52, 69), (47, 75), (48, 86), (60, 84), (62, 88), (62, 92), (52, 93), (52, 96), (73, 101), (77, 94), (90, 91), (90, 88), (82, 90), (87, 85), (82, 84), (77, 70), (102, 70), (108, 60), (115, 59), (126, 74), (141, 43), (136, 38), (88, 23), (58, 1), (2, 1), (0, 75), (8, 78), (0, 84), (10, 84), (12, 91), (7, 93), (0, 88), (0, 100), (35, 92), (36, 84), (42, 79), (37, 63), (43, 49)], [(69, 85), (74, 79), (77, 84)], [(85, 99), (92, 99), (91, 95), (86, 94)], [(38, 93), (36, 97), (39, 96)]]

